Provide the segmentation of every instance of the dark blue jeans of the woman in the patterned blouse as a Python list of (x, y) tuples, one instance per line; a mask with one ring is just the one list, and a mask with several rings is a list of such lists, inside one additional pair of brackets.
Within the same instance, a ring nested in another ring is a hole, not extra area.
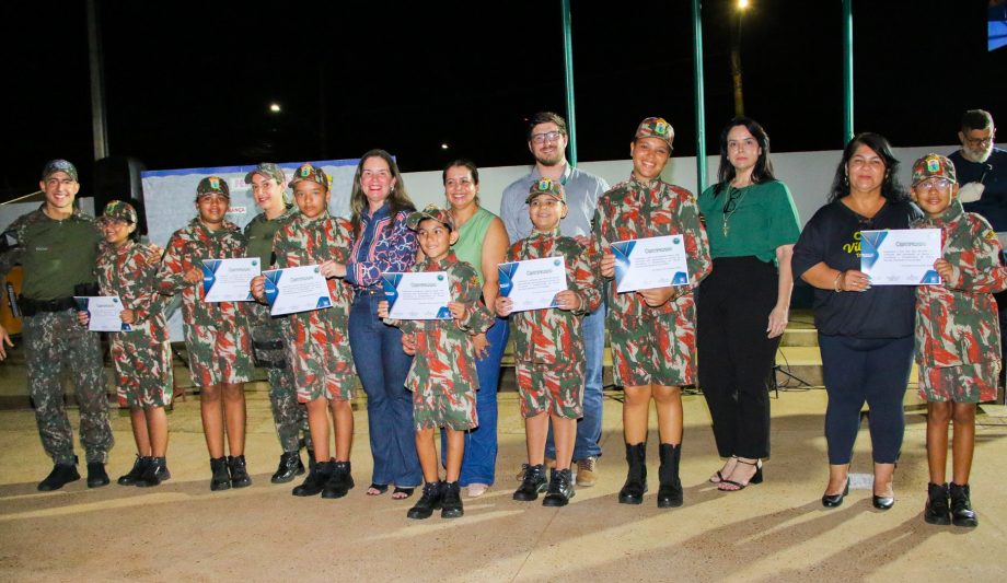
[(405, 387), (413, 358), (402, 351), (402, 331), (378, 317), (383, 294), (361, 294), (349, 313), (349, 346), (367, 393), (374, 483), (402, 488), (423, 483), (413, 427), (413, 395)]

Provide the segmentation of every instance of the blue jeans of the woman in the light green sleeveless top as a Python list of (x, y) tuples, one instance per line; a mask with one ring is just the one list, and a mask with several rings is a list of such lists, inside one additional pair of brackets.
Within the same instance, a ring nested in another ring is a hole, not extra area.
[[(479, 390), (475, 396), (475, 410), (479, 427), (465, 433), (465, 456), (459, 483), (486, 483), (493, 486), (497, 465), (497, 390), (500, 388), (500, 359), (507, 348), (510, 328), (507, 320), (497, 318), (486, 333), (489, 348), (486, 358), (475, 361), (479, 375)], [(441, 430), (441, 464), (448, 465), (448, 432)]]

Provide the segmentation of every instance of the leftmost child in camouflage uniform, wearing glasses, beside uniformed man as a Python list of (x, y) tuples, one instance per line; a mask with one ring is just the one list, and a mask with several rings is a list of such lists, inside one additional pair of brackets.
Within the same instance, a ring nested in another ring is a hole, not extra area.
[[(99, 219), (105, 234), (96, 260), (102, 295), (117, 295), (129, 331), (108, 333), (119, 407), (129, 408), (137, 460), (118, 479), (121, 486), (158, 486), (171, 478), (167, 452), (167, 416), (174, 388), (171, 340), (162, 313), (169, 296), (158, 293), (159, 264), (149, 263), (153, 245), (137, 241), (137, 211), (121, 200), (105, 206)], [(86, 325), (88, 312), (79, 319)]]

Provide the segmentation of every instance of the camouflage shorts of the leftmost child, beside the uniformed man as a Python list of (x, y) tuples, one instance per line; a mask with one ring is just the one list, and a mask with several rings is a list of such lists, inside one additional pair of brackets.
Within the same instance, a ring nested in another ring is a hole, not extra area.
[(114, 333), (108, 335), (108, 343), (119, 407), (171, 405), (175, 383), (170, 341), (158, 342), (139, 333)]

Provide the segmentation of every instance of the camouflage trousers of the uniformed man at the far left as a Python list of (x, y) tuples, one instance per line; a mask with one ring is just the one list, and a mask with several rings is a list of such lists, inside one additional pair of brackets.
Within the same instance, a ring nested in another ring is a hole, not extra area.
[(57, 464), (72, 464), (73, 430), (63, 407), (60, 380), (67, 370), (80, 405), (80, 442), (89, 463), (108, 460), (115, 440), (108, 424), (99, 335), (77, 322), (77, 311), (40, 312), (24, 318), (28, 388), (42, 445)]

